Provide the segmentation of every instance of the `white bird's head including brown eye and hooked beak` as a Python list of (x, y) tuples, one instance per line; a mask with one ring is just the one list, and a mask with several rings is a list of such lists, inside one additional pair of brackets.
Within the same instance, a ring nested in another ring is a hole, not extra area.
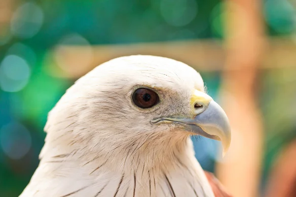
[(198, 72), (140, 55), (113, 59), (77, 80), (50, 112), (45, 131), (46, 143), (83, 142), (97, 153), (132, 152), (190, 135), (221, 140), (225, 152), (231, 139), (226, 114), (206, 94)]

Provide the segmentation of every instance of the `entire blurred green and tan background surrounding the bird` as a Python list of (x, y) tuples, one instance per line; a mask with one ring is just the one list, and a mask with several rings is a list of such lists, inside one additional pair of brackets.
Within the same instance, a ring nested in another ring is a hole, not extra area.
[(233, 137), (223, 159), (194, 141), (196, 157), (230, 193), (296, 197), (295, 0), (0, 0), (0, 197), (28, 184), (66, 89), (133, 54), (201, 73)]

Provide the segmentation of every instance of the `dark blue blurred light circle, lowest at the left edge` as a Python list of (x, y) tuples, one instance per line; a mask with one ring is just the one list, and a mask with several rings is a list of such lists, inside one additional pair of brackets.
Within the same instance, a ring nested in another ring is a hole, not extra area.
[(20, 123), (12, 122), (0, 129), (0, 146), (13, 160), (24, 157), (31, 148), (31, 134)]

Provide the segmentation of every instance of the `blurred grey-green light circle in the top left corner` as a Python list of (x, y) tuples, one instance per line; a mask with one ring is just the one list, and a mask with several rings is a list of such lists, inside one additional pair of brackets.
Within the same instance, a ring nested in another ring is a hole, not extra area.
[(33, 2), (20, 5), (11, 19), (11, 32), (20, 38), (31, 38), (43, 23), (43, 11)]

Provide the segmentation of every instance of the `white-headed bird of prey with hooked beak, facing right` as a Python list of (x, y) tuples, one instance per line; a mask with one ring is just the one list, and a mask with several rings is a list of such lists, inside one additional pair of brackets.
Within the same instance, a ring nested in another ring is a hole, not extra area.
[(149, 55), (115, 58), (79, 78), (44, 131), (20, 197), (214, 197), (191, 136), (220, 140), (223, 154), (231, 141), (201, 75)]

